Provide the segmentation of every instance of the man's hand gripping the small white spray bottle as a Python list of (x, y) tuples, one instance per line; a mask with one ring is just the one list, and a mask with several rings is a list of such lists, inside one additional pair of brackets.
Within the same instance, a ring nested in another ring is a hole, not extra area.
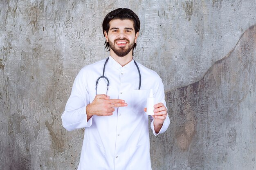
[[(154, 108), (154, 115), (152, 115), (152, 117), (154, 118), (155, 132), (158, 133), (164, 124), (164, 120), (166, 119), (167, 109), (162, 103), (155, 104)], [(147, 108), (144, 108), (144, 111), (146, 112)]]

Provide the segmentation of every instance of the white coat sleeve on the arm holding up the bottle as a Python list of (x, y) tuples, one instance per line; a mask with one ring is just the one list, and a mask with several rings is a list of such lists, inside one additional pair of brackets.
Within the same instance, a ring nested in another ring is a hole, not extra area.
[[(165, 102), (165, 98), (164, 98), (164, 84), (162, 83), (162, 79), (160, 77), (159, 77), (159, 79), (158, 79), (158, 81), (156, 83), (155, 89), (157, 89), (155, 91), (155, 94), (154, 94), (155, 95), (155, 102), (156, 103), (163, 103), (164, 106), (167, 108), (166, 102)], [(153, 130), (153, 134), (155, 136), (165, 132), (167, 130), (169, 124), (170, 124), (170, 119), (169, 119), (169, 116), (167, 114), (166, 119), (164, 120), (164, 124), (163, 124), (162, 128), (160, 129), (160, 131), (158, 133), (156, 133), (155, 129), (154, 129), (154, 119), (153, 119), (152, 116), (150, 116), (150, 120), (151, 120), (150, 128)]]

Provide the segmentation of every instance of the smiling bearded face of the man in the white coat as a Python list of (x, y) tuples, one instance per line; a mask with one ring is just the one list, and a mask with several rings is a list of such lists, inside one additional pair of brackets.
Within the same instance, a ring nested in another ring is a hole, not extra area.
[(134, 43), (137, 42), (138, 32), (135, 34), (132, 20), (111, 20), (108, 33), (105, 31), (105, 37), (109, 42), (111, 50), (119, 57), (124, 57), (132, 53)]

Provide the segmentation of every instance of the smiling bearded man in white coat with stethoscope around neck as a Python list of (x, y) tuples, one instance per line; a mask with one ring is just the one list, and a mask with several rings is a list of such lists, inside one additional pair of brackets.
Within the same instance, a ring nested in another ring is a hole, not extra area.
[(79, 170), (151, 170), (146, 99), (153, 89), (157, 104), (150, 127), (158, 135), (170, 123), (162, 80), (132, 58), (140, 28), (133, 11), (111, 11), (102, 26), (110, 57), (81, 69), (63, 126), (85, 128)]

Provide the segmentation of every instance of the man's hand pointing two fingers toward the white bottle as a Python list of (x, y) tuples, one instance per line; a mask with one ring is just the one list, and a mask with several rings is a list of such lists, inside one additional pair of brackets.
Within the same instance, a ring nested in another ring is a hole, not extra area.
[(124, 100), (110, 99), (107, 95), (96, 95), (92, 103), (86, 106), (87, 121), (92, 115), (110, 116), (113, 115), (116, 107), (127, 106)]

